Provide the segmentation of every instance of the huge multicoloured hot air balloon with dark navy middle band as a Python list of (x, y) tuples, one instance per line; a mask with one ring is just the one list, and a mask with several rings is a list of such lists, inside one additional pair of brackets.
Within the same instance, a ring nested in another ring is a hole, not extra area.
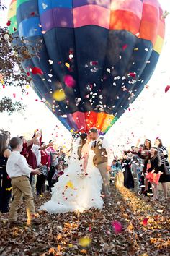
[[(34, 90), (68, 130), (105, 134), (150, 80), (164, 43), (157, 0), (12, 0)], [(32, 69), (39, 72), (32, 72)]]

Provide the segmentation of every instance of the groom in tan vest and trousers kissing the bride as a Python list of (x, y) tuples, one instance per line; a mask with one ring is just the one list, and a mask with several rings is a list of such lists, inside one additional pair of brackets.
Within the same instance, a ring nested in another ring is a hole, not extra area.
[(114, 158), (113, 151), (109, 148), (109, 145), (104, 137), (99, 137), (99, 132), (96, 128), (89, 130), (89, 137), (93, 140), (91, 144), (91, 150), (94, 150), (94, 166), (100, 171), (103, 179), (102, 190), (104, 197), (110, 197), (109, 189), (109, 171), (111, 170), (112, 160)]

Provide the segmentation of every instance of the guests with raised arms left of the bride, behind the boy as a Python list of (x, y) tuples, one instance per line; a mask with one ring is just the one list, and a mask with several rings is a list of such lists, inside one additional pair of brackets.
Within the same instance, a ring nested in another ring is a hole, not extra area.
[[(22, 173), (23, 166), (30, 169), (28, 174), (25, 176), (30, 176), (30, 185), (32, 188), (32, 194), (37, 196), (42, 196), (45, 190), (51, 191), (51, 188), (56, 182), (58, 182), (58, 177), (63, 174), (64, 169), (67, 167), (66, 164), (66, 154), (63, 153), (63, 148), (58, 148), (55, 150), (54, 143), (52, 140), (46, 145), (42, 142), (42, 132), (36, 131), (32, 136), (32, 139), (26, 140), (24, 136), (18, 137), (19, 141), (22, 142), (20, 145), (20, 150), (17, 148), (17, 138), (16, 141), (11, 140), (11, 133), (9, 131), (1, 130), (0, 132), (0, 213), (6, 216), (9, 212), (9, 201), (12, 199), (12, 187), (14, 195), (14, 186), (12, 186), (12, 181), (10, 176), (15, 176), (11, 174), (12, 168), (16, 171), (16, 166), (20, 168), (20, 173)], [(19, 142), (18, 142), (19, 143)], [(17, 148), (17, 150), (16, 150)], [(23, 162), (23, 158), (19, 159), (18, 152), (14, 154), (15, 151), (19, 151), (19, 155), (25, 159), (26, 163)], [(13, 162), (8, 161), (10, 158), (16, 163), (15, 167)], [(7, 170), (7, 162), (8, 168)], [(11, 175), (9, 175), (9, 172)], [(35, 175), (37, 174), (37, 175)], [(21, 177), (22, 174), (19, 176)], [(22, 189), (20, 189), (22, 190)], [(19, 195), (20, 196), (20, 195)], [(19, 198), (19, 201), (21, 198)], [(19, 204), (19, 202), (18, 202)]]

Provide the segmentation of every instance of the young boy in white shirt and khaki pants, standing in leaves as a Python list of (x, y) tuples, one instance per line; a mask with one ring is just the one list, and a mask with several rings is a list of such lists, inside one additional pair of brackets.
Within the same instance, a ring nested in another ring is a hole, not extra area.
[(40, 221), (35, 218), (35, 206), (29, 177), (31, 173), (40, 175), (41, 171), (39, 169), (33, 170), (30, 168), (24, 156), (20, 154), (23, 144), (19, 137), (13, 137), (9, 141), (9, 145), (12, 148), (12, 153), (7, 161), (6, 171), (12, 179), (14, 195), (14, 200), (9, 210), (9, 223), (11, 226), (22, 225), (22, 222), (17, 221), (17, 208), (19, 207), (22, 195), (24, 195), (26, 200), (27, 222), (38, 225)]

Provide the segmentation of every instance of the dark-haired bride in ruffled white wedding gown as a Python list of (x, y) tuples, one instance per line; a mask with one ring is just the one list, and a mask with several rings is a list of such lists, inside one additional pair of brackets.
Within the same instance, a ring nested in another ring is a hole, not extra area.
[(94, 151), (90, 138), (80, 135), (73, 147), (71, 162), (52, 189), (51, 200), (40, 210), (48, 213), (83, 212), (90, 208), (102, 209), (102, 176), (93, 164)]

